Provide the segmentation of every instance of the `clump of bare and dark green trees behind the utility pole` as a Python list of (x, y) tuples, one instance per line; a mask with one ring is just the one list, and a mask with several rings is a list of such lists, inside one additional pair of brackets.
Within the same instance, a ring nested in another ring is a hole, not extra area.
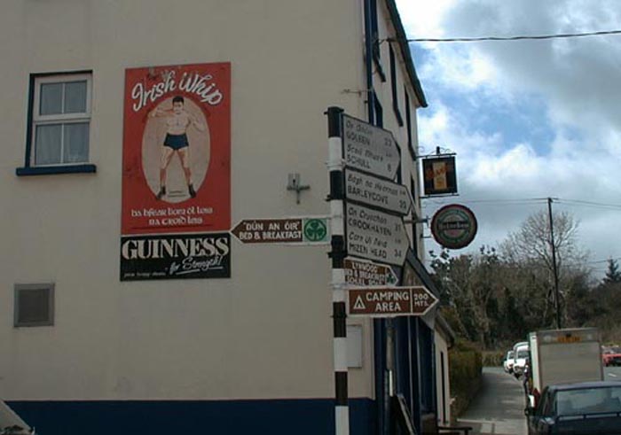
[[(597, 313), (609, 313), (601, 310), (598, 294), (608, 297), (613, 290), (593, 290), (590, 271), (582, 266), (587, 254), (577, 243), (578, 223), (570, 214), (554, 214), (553, 219), (563, 324), (588, 325)], [(499, 249), (483, 246), (456, 257), (445, 249), (431, 252), (442, 312), (460, 338), (495, 348), (521, 340), (531, 330), (554, 326), (552, 243), (547, 214), (539, 213), (510, 233)], [(611, 318), (601, 317), (601, 322), (610, 324)]]

